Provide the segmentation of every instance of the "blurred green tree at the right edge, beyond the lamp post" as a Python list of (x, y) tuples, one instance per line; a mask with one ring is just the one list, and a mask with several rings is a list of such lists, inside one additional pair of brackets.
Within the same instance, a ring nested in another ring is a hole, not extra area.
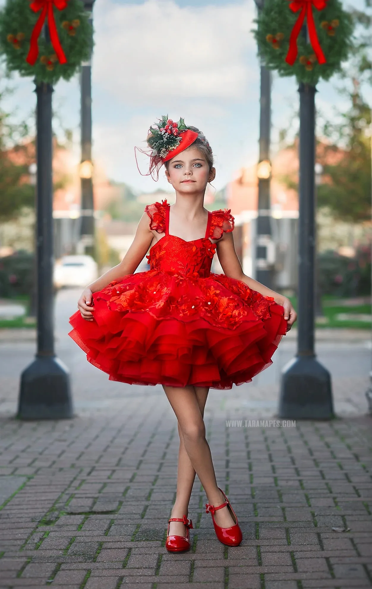
[[(356, 25), (350, 60), (344, 70), (347, 85), (342, 90), (350, 108), (338, 124), (326, 123), (324, 134), (331, 145), (324, 151), (325, 183), (318, 188), (318, 205), (327, 206), (336, 219), (360, 223), (371, 219), (371, 107), (363, 97), (363, 85), (372, 82), (372, 0), (364, 1), (364, 10), (351, 8)], [(349, 86), (350, 88), (350, 86)], [(333, 166), (330, 152), (338, 151)]]

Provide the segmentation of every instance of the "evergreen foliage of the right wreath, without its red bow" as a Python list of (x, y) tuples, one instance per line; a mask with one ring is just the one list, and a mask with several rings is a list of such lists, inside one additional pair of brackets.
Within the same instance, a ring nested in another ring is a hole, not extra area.
[(327, 0), (326, 8), (321, 11), (313, 6), (315, 28), (327, 62), (318, 63), (313, 47), (300, 33), (297, 59), (293, 65), (289, 65), (285, 57), (291, 31), (299, 14), (291, 11), (288, 0), (265, 0), (255, 20), (257, 29), (253, 32), (265, 67), (276, 70), (281, 76), (294, 75), (298, 82), (315, 86), (320, 78), (329, 80), (341, 70), (341, 62), (347, 59), (351, 47), (353, 23), (340, 0)]

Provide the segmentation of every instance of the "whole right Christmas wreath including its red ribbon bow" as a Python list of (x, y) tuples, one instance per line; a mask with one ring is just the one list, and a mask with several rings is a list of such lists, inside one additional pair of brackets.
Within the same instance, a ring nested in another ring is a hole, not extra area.
[[(341, 70), (353, 24), (340, 0), (265, 0), (254, 35), (269, 70), (316, 85)], [(308, 41), (303, 29), (307, 25)]]

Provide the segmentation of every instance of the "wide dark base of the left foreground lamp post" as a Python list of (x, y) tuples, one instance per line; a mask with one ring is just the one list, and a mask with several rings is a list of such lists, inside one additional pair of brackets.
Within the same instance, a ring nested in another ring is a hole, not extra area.
[(74, 416), (69, 372), (55, 356), (36, 356), (21, 375), (18, 419), (69, 419)]

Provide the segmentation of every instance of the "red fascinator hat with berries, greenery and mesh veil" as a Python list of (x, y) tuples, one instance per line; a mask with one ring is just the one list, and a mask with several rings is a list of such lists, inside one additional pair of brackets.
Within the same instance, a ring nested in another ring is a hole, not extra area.
[[(192, 127), (187, 127), (183, 118), (175, 123), (171, 118), (168, 118), (168, 115), (163, 115), (159, 119), (159, 123), (154, 123), (148, 130), (147, 144), (149, 147), (147, 149), (135, 147), (138, 171), (142, 176), (151, 176), (157, 181), (161, 166), (190, 147), (197, 139), (212, 151), (204, 135), (200, 131), (194, 131)], [(150, 158), (150, 166), (145, 174), (142, 174), (138, 167), (137, 151)]]

